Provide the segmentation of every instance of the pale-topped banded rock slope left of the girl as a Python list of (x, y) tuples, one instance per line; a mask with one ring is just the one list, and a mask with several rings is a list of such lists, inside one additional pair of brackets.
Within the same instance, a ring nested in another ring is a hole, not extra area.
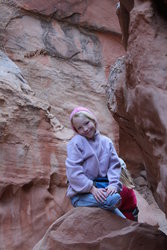
[(59, 187), (66, 181), (59, 157), (65, 160), (71, 131), (34, 96), (3, 52), (0, 69), (0, 249), (25, 250), (70, 207), (65, 188)]

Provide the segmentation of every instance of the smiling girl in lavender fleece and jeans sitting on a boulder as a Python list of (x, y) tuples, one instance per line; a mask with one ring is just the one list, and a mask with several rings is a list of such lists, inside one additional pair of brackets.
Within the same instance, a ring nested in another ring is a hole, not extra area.
[[(125, 218), (117, 208), (121, 203), (121, 164), (112, 141), (99, 133), (95, 116), (85, 107), (75, 108), (70, 121), (76, 132), (67, 145), (66, 159), (67, 196), (72, 205), (100, 207)], [(106, 176), (109, 182), (105, 186), (94, 185), (97, 178)]]

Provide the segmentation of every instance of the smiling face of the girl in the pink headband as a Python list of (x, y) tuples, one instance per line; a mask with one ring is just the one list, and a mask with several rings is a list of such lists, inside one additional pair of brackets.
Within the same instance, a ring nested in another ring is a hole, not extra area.
[(73, 125), (78, 134), (85, 136), (87, 139), (94, 137), (96, 132), (96, 126), (92, 120), (86, 116), (78, 116), (73, 118)]

